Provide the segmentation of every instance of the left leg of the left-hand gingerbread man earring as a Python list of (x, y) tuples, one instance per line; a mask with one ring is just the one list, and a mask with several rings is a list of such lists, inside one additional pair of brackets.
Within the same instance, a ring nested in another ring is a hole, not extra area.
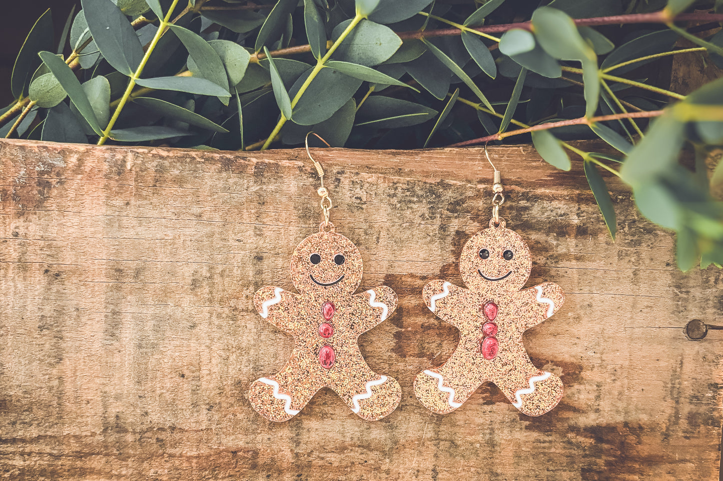
[(259, 378), (249, 388), (249, 401), (260, 415), (281, 422), (291, 419), (307, 405), (322, 384), (309, 380), (309, 373), (299, 368), (292, 356), (275, 376)]

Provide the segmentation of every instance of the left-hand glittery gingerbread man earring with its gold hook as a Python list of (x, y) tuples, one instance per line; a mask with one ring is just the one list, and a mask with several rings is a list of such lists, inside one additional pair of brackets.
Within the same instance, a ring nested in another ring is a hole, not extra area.
[(356, 415), (378, 420), (398, 406), (401, 387), (394, 378), (369, 368), (358, 338), (393, 313), (397, 295), (383, 285), (354, 294), (361, 282), (361, 254), (329, 222), (332, 202), (324, 169), (309, 152), (309, 134), (307, 154), (321, 181), (317, 194), (324, 220), (319, 232), (291, 254), (291, 282), (299, 294), (267, 286), (254, 295), (261, 317), (294, 336), (296, 344), (279, 373), (251, 384), (249, 400), (268, 420), (286, 421), (319, 389), (330, 387)]

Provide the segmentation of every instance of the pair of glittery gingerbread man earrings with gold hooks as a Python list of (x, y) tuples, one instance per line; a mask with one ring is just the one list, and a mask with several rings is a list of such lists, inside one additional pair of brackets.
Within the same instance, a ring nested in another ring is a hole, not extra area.
[[(291, 255), (291, 282), (299, 293), (267, 286), (254, 295), (260, 316), (291, 334), (295, 345), (281, 371), (251, 384), (249, 400), (267, 419), (285, 421), (322, 387), (329, 387), (359, 417), (379, 420), (398, 406), (401, 386), (369, 368), (358, 339), (395, 311), (398, 298), (383, 285), (355, 294), (363, 271), (361, 254), (329, 221), (333, 204), (324, 170), (309, 152), (310, 134), (306, 148), (320, 177), (317, 194), (324, 220), (319, 232), (304, 238)], [(492, 165), (486, 146), (484, 153)], [(500, 171), (492, 168), (489, 228), (473, 235), (460, 256), (467, 288), (432, 280), (422, 291), (429, 310), (459, 329), (460, 342), (444, 365), (416, 376), (414, 392), (429, 410), (446, 414), (490, 381), (518, 410), (538, 416), (560, 402), (562, 381), (535, 368), (522, 334), (552, 316), (564, 294), (552, 282), (522, 289), (531, 272), (531, 254), (499, 216), (504, 188)]]

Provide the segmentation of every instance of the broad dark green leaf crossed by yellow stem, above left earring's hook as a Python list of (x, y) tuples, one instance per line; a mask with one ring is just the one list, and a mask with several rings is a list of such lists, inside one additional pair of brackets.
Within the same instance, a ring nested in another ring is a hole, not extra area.
[[(312, 69), (301, 75), (289, 91), (292, 96), (299, 91)], [(335, 69), (321, 69), (307, 87), (299, 103), (294, 105), (294, 122), (299, 125), (315, 125), (325, 121), (354, 95), (361, 80), (342, 74)]]

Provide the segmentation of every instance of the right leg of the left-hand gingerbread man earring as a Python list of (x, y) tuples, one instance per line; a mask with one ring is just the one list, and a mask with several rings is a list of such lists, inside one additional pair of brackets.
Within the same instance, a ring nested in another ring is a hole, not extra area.
[(334, 382), (330, 388), (356, 415), (368, 421), (382, 419), (395, 410), (402, 399), (397, 380), (372, 371), (361, 355), (354, 363), (353, 376)]

